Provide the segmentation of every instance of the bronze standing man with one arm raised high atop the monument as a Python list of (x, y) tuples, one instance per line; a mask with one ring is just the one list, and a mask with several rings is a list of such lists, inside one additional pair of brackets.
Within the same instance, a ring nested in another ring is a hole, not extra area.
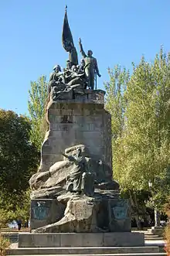
[(80, 44), (80, 53), (82, 54), (83, 60), (85, 62), (84, 70), (87, 77), (87, 84), (88, 84), (88, 87), (93, 90), (95, 73), (97, 73), (98, 77), (101, 77), (98, 66), (97, 66), (97, 59), (92, 56), (93, 55), (92, 50), (89, 49), (87, 54), (84, 52), (81, 39), (79, 39), (79, 44)]

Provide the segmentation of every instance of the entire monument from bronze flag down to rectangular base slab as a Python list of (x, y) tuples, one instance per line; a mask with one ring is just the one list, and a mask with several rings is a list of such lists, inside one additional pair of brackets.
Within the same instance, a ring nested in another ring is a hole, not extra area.
[(97, 60), (80, 39), (78, 64), (66, 13), (62, 40), (69, 60), (49, 77), (49, 129), (29, 180), (32, 233), (19, 234), (19, 247), (144, 245), (143, 235), (131, 234), (131, 208), (112, 179), (111, 118), (97, 90)]

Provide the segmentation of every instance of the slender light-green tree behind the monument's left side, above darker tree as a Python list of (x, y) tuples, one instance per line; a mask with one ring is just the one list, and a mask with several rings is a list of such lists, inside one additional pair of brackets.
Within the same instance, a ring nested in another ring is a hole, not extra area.
[(29, 90), (28, 108), (32, 121), (31, 141), (40, 150), (46, 133), (46, 104), (48, 101), (48, 84), (46, 77), (39, 77), (37, 81), (31, 81)]

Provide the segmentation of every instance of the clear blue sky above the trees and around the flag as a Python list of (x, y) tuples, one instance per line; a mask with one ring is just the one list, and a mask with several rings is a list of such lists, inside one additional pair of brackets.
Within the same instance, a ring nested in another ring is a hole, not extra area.
[(65, 67), (65, 5), (77, 52), (81, 37), (97, 58), (99, 88), (107, 67), (130, 68), (142, 54), (153, 60), (161, 45), (169, 50), (169, 0), (0, 0), (0, 108), (28, 114), (30, 81), (48, 79), (57, 63)]

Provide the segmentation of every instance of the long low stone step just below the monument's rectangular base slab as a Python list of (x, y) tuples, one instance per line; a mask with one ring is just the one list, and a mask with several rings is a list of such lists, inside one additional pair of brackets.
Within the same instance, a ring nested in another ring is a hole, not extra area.
[(15, 247), (7, 251), (9, 255), (33, 255), (33, 254), (156, 254), (158, 246), (143, 247)]

